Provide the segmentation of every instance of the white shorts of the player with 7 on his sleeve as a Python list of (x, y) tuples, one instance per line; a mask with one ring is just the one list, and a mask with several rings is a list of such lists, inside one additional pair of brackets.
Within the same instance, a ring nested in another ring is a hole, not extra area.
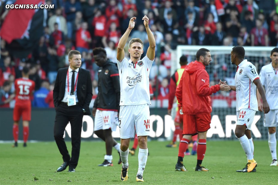
[(252, 123), (255, 117), (255, 110), (252, 109), (241, 109), (236, 111), (237, 125), (246, 125), (248, 130), (251, 130)]

